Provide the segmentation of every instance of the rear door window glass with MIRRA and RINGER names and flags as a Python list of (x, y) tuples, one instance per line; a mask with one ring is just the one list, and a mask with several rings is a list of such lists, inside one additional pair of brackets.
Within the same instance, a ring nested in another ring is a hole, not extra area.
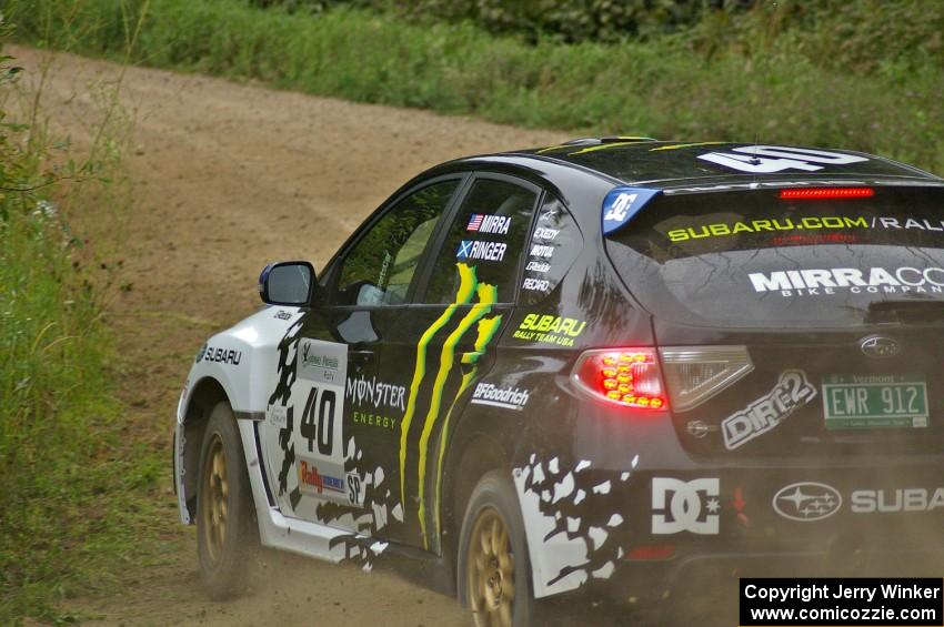
[(496, 302), (513, 302), (536, 201), (534, 189), (504, 179), (476, 179), (450, 226), (423, 302), (454, 302), (463, 263), (475, 270), (479, 284), (496, 287)]

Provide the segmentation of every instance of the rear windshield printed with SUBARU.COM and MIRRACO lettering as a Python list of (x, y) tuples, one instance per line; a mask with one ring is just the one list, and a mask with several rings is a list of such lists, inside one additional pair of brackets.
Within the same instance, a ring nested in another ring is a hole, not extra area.
[(642, 304), (673, 322), (862, 324), (876, 302), (944, 302), (944, 188), (661, 195), (606, 251)]

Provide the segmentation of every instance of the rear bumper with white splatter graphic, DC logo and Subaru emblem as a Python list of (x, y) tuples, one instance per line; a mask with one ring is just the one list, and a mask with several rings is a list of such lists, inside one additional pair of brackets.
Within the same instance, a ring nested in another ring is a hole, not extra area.
[(730, 587), (736, 603), (742, 576), (940, 572), (944, 458), (560, 466), (535, 459), (515, 476), (539, 597), (580, 588), (641, 603)]

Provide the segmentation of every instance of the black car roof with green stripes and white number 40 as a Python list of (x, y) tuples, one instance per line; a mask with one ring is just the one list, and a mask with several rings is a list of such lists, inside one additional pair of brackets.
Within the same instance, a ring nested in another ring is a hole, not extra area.
[[(944, 184), (941, 178), (917, 168), (863, 152), (756, 143), (583, 138), (504, 154), (551, 160), (627, 185), (656, 189), (811, 179), (838, 179), (844, 183), (858, 179), (864, 184)], [(786, 159), (799, 166), (785, 166), (782, 160)]]

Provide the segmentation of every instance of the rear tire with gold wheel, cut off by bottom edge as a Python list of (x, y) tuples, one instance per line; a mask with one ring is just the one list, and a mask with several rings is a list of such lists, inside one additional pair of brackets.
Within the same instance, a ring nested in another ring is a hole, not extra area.
[(514, 488), (504, 473), (485, 474), (472, 491), (456, 562), (459, 597), (472, 611), (478, 627), (533, 624), (534, 595), (524, 523)]

